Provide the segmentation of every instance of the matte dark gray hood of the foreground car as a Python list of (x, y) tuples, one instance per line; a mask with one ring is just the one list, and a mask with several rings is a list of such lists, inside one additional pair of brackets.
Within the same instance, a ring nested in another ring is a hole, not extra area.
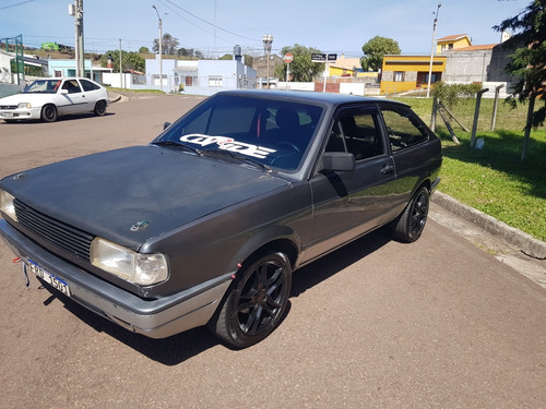
[(134, 250), (153, 237), (286, 184), (262, 169), (155, 146), (70, 159), (0, 183), (55, 219)]

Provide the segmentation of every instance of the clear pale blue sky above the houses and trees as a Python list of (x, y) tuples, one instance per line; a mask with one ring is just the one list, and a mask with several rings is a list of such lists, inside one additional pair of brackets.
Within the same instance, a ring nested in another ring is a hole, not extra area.
[[(72, 1), (73, 2), (73, 1)], [(263, 55), (262, 36), (273, 36), (272, 52), (299, 44), (321, 52), (363, 56), (375, 36), (399, 43), (403, 55), (429, 55), (434, 21), (436, 38), (467, 34), (473, 45), (497, 44), (491, 27), (520, 13), (531, 0), (83, 0), (85, 52), (121, 48), (152, 50), (163, 34), (179, 47), (205, 57)], [(0, 0), (0, 39), (23, 35), (25, 46), (57, 41), (74, 46), (70, 0)], [(152, 5), (156, 7), (156, 10)], [(438, 15), (436, 11), (439, 10)]]

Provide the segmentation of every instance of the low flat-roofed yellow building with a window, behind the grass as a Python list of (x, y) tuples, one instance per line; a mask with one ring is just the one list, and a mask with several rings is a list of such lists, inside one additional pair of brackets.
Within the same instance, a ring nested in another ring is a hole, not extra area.
[[(446, 56), (432, 60), (430, 83), (441, 81), (446, 72)], [(380, 94), (397, 94), (428, 86), (430, 56), (384, 56)]]

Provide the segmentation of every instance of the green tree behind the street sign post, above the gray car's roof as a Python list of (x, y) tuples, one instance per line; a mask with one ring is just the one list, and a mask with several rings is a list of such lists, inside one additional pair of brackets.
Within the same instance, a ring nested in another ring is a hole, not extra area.
[[(321, 53), (320, 50), (312, 47), (295, 44), (292, 47), (283, 47), (281, 53), (292, 53), (294, 60), (290, 62), (290, 81), (310, 82), (324, 71), (324, 64), (311, 61), (311, 53)], [(275, 67), (275, 76), (284, 79), (286, 76), (286, 63)]]

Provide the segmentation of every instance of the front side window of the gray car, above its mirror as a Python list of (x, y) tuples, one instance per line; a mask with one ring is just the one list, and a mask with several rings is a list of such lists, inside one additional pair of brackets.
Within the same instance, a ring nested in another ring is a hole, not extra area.
[(348, 152), (356, 160), (382, 155), (384, 146), (376, 111), (352, 108), (341, 111), (330, 134), (327, 152)]

